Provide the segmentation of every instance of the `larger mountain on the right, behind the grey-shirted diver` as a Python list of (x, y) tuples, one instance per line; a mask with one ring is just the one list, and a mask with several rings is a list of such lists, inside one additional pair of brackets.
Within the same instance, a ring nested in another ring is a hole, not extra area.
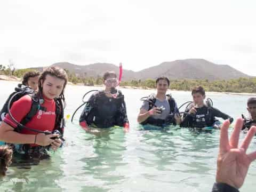
[(163, 62), (138, 72), (141, 79), (167, 76), (170, 79), (235, 79), (250, 77), (228, 65), (217, 65), (204, 59), (185, 59)]

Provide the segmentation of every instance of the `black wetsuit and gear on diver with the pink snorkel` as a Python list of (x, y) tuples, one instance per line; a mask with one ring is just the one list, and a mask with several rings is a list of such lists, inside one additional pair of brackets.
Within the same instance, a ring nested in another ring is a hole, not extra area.
[(129, 123), (122, 92), (118, 91), (117, 98), (109, 98), (103, 91), (93, 94), (80, 116), (79, 122), (83, 121), (100, 128)]

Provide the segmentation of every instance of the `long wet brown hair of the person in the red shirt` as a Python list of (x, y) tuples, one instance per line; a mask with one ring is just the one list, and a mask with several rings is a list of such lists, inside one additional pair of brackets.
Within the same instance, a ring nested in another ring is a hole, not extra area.
[[(59, 67), (53, 67), (53, 66), (52, 67), (47, 67), (43, 71), (43, 73), (40, 75), (39, 80), (38, 80), (38, 95), (39, 95), (39, 97), (42, 97), (42, 95), (43, 95), (43, 84), (42, 83), (44, 83), (45, 78), (46, 78), (47, 75), (57, 77), (57, 78), (63, 79), (65, 81), (65, 83), (63, 85), (63, 90), (60, 93), (60, 98), (65, 103), (64, 90), (65, 90), (65, 87), (66, 87), (67, 82), (68, 82), (68, 75), (67, 75), (67, 73), (64, 69), (59, 68)], [(41, 81), (42, 81), (42, 83), (41, 83)]]

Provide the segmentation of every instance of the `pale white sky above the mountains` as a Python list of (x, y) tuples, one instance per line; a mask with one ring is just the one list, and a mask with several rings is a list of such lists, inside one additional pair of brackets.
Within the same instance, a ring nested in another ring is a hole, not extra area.
[(256, 76), (256, 2), (1, 1), (0, 64), (107, 62), (139, 71), (202, 58)]

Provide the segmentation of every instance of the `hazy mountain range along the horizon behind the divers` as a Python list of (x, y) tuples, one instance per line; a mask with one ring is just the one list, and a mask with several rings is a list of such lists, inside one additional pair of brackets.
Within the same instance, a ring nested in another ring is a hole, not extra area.
[[(105, 71), (115, 71), (119, 74), (119, 67), (110, 63), (94, 63), (85, 66), (74, 65), (68, 62), (54, 63), (63, 69), (76, 73), (82, 77), (103, 76)], [(42, 70), (43, 68), (37, 68)], [(135, 72), (132, 70), (123, 70), (123, 81), (133, 79), (145, 80), (147, 78), (156, 79), (159, 76), (167, 76), (170, 79), (209, 79), (210, 81), (218, 79), (236, 79), (239, 77), (251, 77), (238, 71), (228, 65), (217, 65), (204, 59), (185, 59), (161, 64)]]

